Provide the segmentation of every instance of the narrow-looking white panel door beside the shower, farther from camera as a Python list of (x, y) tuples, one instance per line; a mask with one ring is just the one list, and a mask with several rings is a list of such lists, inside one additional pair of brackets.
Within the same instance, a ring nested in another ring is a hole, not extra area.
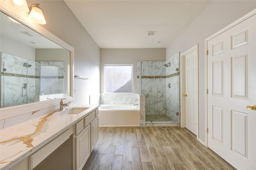
[(198, 116), (198, 81), (197, 81), (197, 48), (184, 55), (185, 57), (185, 127), (197, 135)]

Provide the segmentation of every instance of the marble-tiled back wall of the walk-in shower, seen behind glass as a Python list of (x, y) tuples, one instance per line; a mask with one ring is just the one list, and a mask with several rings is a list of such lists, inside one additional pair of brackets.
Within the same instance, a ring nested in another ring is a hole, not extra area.
[(166, 116), (165, 61), (141, 63), (141, 93), (146, 100), (146, 122), (171, 121)]

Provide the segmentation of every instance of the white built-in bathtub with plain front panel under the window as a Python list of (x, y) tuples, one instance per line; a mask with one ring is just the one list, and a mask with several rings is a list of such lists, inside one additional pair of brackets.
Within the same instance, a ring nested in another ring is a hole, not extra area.
[(99, 127), (138, 127), (140, 108), (125, 104), (100, 104)]

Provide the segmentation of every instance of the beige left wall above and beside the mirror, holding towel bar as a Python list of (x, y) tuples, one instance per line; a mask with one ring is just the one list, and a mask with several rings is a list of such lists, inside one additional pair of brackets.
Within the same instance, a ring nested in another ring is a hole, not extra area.
[(28, 6), (40, 3), (46, 30), (74, 47), (74, 74), (90, 77), (74, 79), (74, 102), (89, 104), (89, 96), (100, 93), (100, 48), (62, 0), (29, 0)]

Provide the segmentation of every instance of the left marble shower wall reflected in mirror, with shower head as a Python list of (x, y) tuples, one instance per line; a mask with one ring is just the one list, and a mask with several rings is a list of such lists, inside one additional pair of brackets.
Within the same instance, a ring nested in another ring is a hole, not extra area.
[(35, 70), (35, 61), (1, 53), (1, 107), (34, 102)]

